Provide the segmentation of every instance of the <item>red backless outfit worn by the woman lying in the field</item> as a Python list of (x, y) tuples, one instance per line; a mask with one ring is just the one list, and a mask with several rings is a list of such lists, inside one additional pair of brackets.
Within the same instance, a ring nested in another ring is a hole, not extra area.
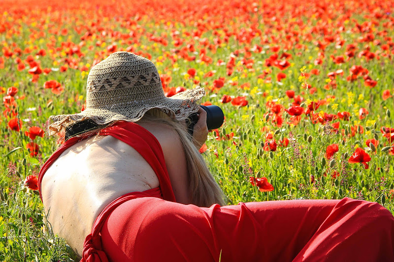
[[(143, 127), (117, 122), (99, 135), (134, 147), (160, 189), (109, 204), (84, 243), (86, 262), (394, 261), (394, 217), (361, 200), (292, 200), (198, 207), (175, 203), (162, 148)], [(81, 138), (71, 138), (44, 164)]]

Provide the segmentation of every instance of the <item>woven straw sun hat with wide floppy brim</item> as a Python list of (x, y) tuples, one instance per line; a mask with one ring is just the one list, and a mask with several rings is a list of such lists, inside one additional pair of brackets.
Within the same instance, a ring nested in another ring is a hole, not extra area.
[(196, 87), (165, 97), (155, 65), (129, 52), (113, 53), (96, 64), (87, 82), (86, 109), (73, 115), (50, 116), (49, 135), (87, 118), (98, 124), (135, 122), (152, 108), (185, 120), (198, 111), (196, 102), (205, 95), (203, 87)]

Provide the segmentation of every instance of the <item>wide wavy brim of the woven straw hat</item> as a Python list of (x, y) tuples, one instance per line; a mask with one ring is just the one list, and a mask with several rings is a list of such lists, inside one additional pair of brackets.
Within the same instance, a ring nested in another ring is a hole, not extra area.
[(163, 97), (160, 100), (155, 100), (154, 103), (144, 101), (144, 103), (141, 104), (132, 103), (131, 101), (127, 107), (113, 107), (110, 109), (90, 108), (78, 114), (50, 116), (48, 133), (50, 136), (61, 133), (68, 125), (88, 118), (99, 125), (106, 125), (119, 120), (136, 122), (141, 119), (148, 110), (153, 108), (160, 109), (168, 116), (178, 121), (182, 121), (198, 111), (198, 102), (204, 95), (204, 88), (196, 87), (180, 92), (171, 97)]

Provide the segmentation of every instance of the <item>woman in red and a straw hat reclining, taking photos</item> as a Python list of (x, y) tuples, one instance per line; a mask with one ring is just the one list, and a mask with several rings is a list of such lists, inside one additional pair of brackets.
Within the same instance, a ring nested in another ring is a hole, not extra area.
[(394, 261), (394, 217), (376, 203), (221, 206), (198, 153), (203, 95), (166, 98), (151, 61), (117, 52), (90, 71), (85, 111), (50, 117), (66, 142), (40, 171), (41, 198), (82, 261)]

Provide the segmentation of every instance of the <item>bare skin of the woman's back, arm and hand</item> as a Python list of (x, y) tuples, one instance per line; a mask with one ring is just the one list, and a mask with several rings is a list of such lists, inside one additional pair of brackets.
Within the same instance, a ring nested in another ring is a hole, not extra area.
[[(208, 133), (206, 113), (201, 111), (194, 129), (198, 148)], [(185, 152), (178, 134), (162, 124), (141, 126), (162, 146), (176, 201), (190, 204)], [(124, 194), (158, 186), (156, 174), (134, 148), (111, 136), (95, 136), (69, 147), (48, 169), (42, 197), (54, 233), (82, 256), (85, 237), (105, 206)]]

